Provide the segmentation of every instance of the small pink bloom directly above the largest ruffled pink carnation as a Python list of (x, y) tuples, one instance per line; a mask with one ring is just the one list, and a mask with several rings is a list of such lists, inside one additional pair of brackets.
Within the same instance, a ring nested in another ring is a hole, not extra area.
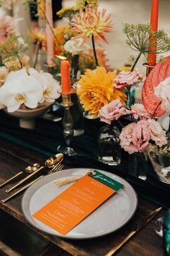
[(134, 119), (149, 119), (151, 117), (143, 104), (140, 103), (135, 103), (131, 106), (130, 114), (133, 115)]

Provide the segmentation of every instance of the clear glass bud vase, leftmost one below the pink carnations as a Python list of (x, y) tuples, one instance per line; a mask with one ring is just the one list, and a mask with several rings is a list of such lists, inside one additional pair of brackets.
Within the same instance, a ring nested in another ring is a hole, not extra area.
[(109, 166), (117, 166), (121, 161), (120, 130), (114, 124), (107, 124), (99, 129), (98, 160)]

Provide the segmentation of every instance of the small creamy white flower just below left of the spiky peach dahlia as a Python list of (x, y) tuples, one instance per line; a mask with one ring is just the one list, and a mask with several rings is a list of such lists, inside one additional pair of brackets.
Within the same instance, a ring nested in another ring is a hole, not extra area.
[(64, 48), (66, 51), (69, 51), (71, 54), (76, 55), (76, 54), (81, 54), (84, 51), (89, 50), (90, 46), (87, 43), (84, 43), (82, 46), (82, 38), (77, 38), (74, 40), (68, 40)]

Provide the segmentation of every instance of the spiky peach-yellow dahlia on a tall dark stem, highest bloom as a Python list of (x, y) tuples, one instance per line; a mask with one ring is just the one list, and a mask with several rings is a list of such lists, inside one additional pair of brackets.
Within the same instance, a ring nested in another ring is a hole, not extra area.
[(72, 39), (83, 38), (82, 44), (84, 44), (87, 38), (91, 39), (92, 35), (94, 35), (94, 40), (97, 43), (99, 41), (108, 43), (104, 33), (112, 32), (113, 24), (111, 14), (105, 14), (106, 9), (102, 9), (102, 12), (99, 12), (97, 7), (89, 7), (74, 14), (71, 30), (78, 33), (78, 35)]

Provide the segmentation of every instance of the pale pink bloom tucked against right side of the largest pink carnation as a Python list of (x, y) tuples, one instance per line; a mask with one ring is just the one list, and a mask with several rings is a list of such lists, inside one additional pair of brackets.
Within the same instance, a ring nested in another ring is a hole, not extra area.
[(151, 129), (151, 140), (156, 142), (156, 145), (161, 147), (167, 143), (166, 132), (162, 129), (161, 124), (154, 119), (148, 119), (148, 124)]

